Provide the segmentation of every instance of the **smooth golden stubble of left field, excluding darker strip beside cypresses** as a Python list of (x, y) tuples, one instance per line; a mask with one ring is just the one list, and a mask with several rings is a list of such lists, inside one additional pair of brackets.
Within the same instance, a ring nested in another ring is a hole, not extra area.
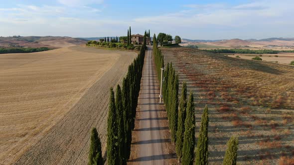
[[(0, 164), (13, 163), (42, 139), (111, 68), (121, 67), (118, 73), (123, 76), (135, 55), (82, 47), (0, 55)], [(114, 66), (119, 61), (122, 65)], [(117, 80), (113, 79), (113, 82)], [(95, 92), (103, 95), (108, 92), (109, 86), (104, 88)], [(88, 99), (91, 100), (90, 97)], [(86, 116), (91, 109), (79, 110)], [(97, 119), (105, 115), (101, 114)], [(90, 121), (89, 118), (87, 120)], [(86, 129), (79, 133), (87, 135), (90, 127), (79, 125), (81, 129)]]

